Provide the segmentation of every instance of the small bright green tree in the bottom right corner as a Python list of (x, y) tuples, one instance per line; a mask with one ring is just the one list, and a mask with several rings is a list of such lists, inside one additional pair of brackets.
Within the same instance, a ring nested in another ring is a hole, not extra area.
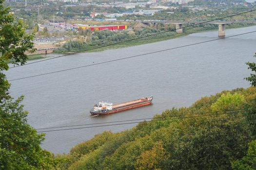
[(232, 162), (233, 170), (256, 170), (256, 140), (249, 143), (247, 154), (240, 160)]

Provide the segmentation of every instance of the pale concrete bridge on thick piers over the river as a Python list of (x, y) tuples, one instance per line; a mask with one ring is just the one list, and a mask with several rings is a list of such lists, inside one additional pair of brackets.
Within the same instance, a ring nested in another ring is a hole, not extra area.
[(217, 24), (218, 25), (218, 36), (222, 37), (225, 36), (225, 25), (226, 24), (234, 24), (234, 23), (250, 23), (256, 24), (255, 21), (159, 21), (159, 20), (144, 20), (142, 21), (143, 24), (147, 24), (149, 26), (155, 26), (157, 23), (165, 23), (165, 24), (175, 24), (176, 25), (176, 32), (183, 33), (182, 24), (200, 24), (200, 23), (207, 23), (207, 24)]

